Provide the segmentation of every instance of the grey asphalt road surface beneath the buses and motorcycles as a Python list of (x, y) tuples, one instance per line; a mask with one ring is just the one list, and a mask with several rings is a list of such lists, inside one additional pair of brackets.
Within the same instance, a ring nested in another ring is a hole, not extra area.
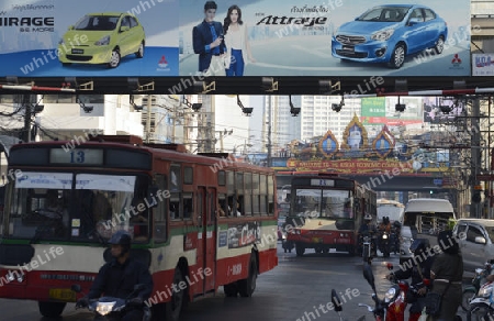
[[(279, 266), (257, 279), (257, 289), (252, 298), (225, 298), (220, 289), (217, 297), (201, 299), (189, 305), (182, 321), (313, 321), (338, 320), (335, 311), (321, 309), (330, 302), (330, 290), (341, 292), (346, 302), (343, 305), (345, 319), (351, 321), (366, 314), (367, 320), (373, 320), (366, 308), (358, 303), (372, 305), (371, 288), (362, 276), (360, 257), (349, 257), (346, 254), (315, 254), (312, 250), (303, 257), (296, 257), (295, 252), (283, 253), (278, 246)], [(374, 259), (377, 289), (380, 297), (389, 289), (391, 283), (384, 279), (388, 274), (385, 264), (391, 262), (398, 268), (397, 255), (390, 259)], [(465, 279), (468, 281), (468, 279)], [(347, 291), (347, 289), (349, 289)], [(346, 294), (347, 291), (347, 294)], [(92, 320), (89, 312), (76, 311), (74, 303), (67, 305), (63, 318), (42, 318), (34, 301), (0, 300), (2, 321), (82, 321)], [(461, 310), (461, 309), (460, 309)], [(323, 311), (326, 311), (324, 313)], [(317, 314), (318, 313), (318, 314)], [(464, 313), (460, 313), (465, 320)], [(405, 319), (406, 320), (406, 319)]]

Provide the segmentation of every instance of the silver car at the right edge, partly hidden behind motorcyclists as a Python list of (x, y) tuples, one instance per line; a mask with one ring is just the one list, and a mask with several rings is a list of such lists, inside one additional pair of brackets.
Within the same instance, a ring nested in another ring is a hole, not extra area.
[(473, 273), (494, 258), (494, 220), (460, 219), (453, 228), (453, 235), (460, 242), (464, 272)]

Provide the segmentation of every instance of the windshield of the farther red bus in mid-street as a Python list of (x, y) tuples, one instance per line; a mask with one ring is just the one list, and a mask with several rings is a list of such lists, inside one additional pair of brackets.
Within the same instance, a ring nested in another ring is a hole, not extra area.
[(353, 219), (353, 197), (350, 190), (303, 188), (295, 190), (292, 215)]

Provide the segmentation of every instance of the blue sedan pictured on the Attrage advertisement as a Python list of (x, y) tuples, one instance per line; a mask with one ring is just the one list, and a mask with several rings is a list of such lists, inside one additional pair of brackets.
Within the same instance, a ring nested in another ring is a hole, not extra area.
[(447, 37), (446, 21), (430, 8), (379, 5), (337, 29), (332, 55), (343, 62), (386, 63), (400, 69), (411, 54), (429, 48), (442, 53)]

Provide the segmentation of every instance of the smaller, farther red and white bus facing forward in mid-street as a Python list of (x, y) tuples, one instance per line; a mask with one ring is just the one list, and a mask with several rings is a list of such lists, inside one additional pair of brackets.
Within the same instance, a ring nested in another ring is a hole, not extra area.
[(306, 248), (356, 254), (357, 232), (366, 213), (375, 218), (377, 196), (356, 180), (332, 174), (294, 175), (291, 181), (287, 240), (296, 255)]

